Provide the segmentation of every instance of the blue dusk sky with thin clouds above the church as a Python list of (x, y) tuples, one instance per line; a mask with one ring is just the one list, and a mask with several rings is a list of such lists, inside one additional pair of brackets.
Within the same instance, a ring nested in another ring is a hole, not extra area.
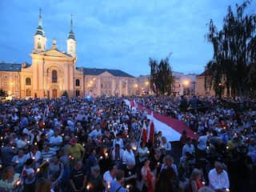
[[(240, 0), (0, 0), (0, 62), (31, 63), (38, 12), (50, 49), (66, 51), (74, 15), (77, 66), (150, 74), (149, 58), (166, 58), (174, 71), (200, 74), (213, 55), (204, 38), (210, 18), (222, 26)], [(256, 1), (249, 11), (255, 12)]]

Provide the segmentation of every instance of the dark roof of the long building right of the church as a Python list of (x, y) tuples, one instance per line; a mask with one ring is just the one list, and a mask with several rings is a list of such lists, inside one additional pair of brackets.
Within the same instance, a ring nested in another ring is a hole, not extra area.
[(107, 70), (107, 69), (96, 69), (96, 68), (85, 68), (83, 67), (83, 74), (85, 75), (99, 75), (104, 72), (109, 72), (110, 74), (116, 77), (127, 77), (127, 78), (134, 78), (134, 76), (127, 74), (122, 70)]

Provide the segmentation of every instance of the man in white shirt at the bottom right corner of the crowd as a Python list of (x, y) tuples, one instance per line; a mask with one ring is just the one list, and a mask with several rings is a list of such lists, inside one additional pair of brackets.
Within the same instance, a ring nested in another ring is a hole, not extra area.
[(214, 191), (225, 191), (229, 189), (230, 180), (226, 170), (223, 170), (223, 164), (221, 162), (215, 162), (214, 167), (208, 174), (210, 188)]

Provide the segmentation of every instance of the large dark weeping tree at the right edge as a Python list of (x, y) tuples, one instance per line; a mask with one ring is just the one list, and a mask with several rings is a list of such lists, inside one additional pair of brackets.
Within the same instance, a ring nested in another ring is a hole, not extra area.
[(255, 91), (256, 72), (256, 15), (246, 13), (251, 1), (236, 4), (234, 13), (228, 7), (222, 30), (210, 20), (207, 40), (214, 47), (214, 56), (206, 70), (215, 93), (224, 88), (228, 95), (249, 96)]

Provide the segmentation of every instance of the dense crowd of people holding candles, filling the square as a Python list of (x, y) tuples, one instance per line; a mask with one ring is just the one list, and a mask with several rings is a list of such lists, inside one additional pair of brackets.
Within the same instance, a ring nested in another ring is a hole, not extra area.
[[(0, 191), (254, 191), (256, 114), (205, 98), (132, 98), (178, 118), (178, 145), (125, 98), (54, 98), (0, 103)], [(126, 98), (127, 99), (127, 98)], [(174, 153), (175, 151), (180, 151)], [(178, 161), (177, 161), (178, 159)]]

